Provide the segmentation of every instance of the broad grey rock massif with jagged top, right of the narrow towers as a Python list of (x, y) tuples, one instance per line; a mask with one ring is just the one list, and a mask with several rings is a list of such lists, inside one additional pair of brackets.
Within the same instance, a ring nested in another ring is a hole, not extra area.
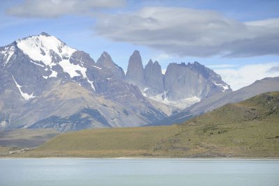
[(230, 92), (229, 85), (220, 75), (197, 62), (170, 63), (165, 72), (165, 91), (170, 100), (180, 100), (193, 96), (206, 98), (218, 92)]

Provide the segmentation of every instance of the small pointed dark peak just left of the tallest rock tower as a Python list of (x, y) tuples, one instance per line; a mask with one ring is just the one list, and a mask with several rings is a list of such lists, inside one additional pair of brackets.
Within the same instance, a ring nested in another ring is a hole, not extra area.
[(96, 65), (100, 66), (101, 68), (108, 68), (112, 71), (115, 77), (118, 77), (120, 79), (123, 79), (123, 77), (125, 76), (123, 69), (112, 61), (110, 54), (107, 54), (107, 52), (103, 52)]

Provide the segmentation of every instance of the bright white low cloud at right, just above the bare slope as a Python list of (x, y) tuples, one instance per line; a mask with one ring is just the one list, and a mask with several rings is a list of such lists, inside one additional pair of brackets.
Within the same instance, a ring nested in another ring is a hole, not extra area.
[(217, 68), (214, 69), (224, 82), (229, 84), (233, 91), (248, 86), (264, 77), (279, 76), (279, 63), (262, 63), (243, 65), (239, 68)]

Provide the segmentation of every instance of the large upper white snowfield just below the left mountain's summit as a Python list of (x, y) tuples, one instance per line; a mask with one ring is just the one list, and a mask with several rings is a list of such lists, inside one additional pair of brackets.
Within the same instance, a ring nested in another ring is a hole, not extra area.
[(16, 40), (16, 43), (17, 47), (33, 59), (33, 61), (42, 61), (45, 65), (51, 65), (53, 62), (52, 59), (56, 55), (60, 59), (69, 59), (77, 51), (68, 47), (65, 42), (44, 32), (38, 36), (30, 36), (22, 40)]

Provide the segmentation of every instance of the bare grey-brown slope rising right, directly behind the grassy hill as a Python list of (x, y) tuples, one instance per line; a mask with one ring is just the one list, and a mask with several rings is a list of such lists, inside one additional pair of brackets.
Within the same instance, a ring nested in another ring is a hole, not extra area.
[(240, 102), (260, 93), (271, 91), (279, 91), (279, 77), (266, 77), (232, 93), (216, 93), (209, 98), (205, 98), (201, 102), (193, 104), (179, 114), (174, 114), (168, 118), (164, 118), (162, 121), (152, 123), (151, 125), (171, 125), (174, 123), (181, 123), (187, 121), (189, 118), (193, 118), (193, 116), (222, 107), (227, 103)]

